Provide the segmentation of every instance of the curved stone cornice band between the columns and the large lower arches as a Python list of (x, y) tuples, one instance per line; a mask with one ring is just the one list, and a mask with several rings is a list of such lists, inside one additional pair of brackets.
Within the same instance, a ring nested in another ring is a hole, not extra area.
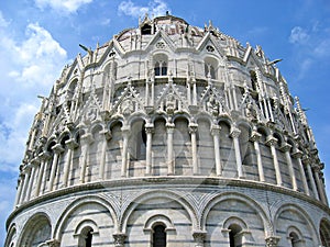
[[(10, 222), (30, 207), (35, 205), (42, 205), (50, 203), (54, 200), (58, 201), (59, 199), (69, 198), (73, 195), (79, 195), (86, 192), (94, 192), (100, 193), (102, 191), (109, 190), (117, 190), (124, 187), (125, 190), (136, 189), (136, 188), (145, 188), (151, 187), (151, 184), (155, 186), (153, 189), (157, 189), (157, 184), (161, 188), (162, 183), (170, 181), (170, 186), (174, 188), (191, 188), (197, 186), (198, 188), (209, 188), (212, 187), (213, 189), (224, 188), (224, 187), (238, 187), (238, 188), (251, 188), (261, 191), (272, 191), (279, 194), (286, 194), (302, 201), (306, 201), (320, 210), (330, 214), (330, 207), (326, 204), (321, 203), (320, 201), (315, 200), (314, 198), (298, 191), (290, 190), (288, 188), (278, 187), (276, 184), (258, 182), (258, 181), (251, 181), (244, 179), (228, 179), (228, 178), (217, 178), (217, 177), (204, 177), (204, 176), (166, 176), (166, 177), (142, 177), (142, 178), (124, 178), (124, 179), (116, 179), (116, 180), (108, 180), (108, 181), (97, 181), (97, 182), (88, 182), (79, 186), (68, 187), (64, 189), (59, 189), (53, 192), (47, 192), (38, 198), (32, 199), (29, 202), (21, 204), (16, 207), (8, 217), (6, 226), (7, 228), (10, 225)], [(178, 187), (180, 186), (180, 187)], [(166, 188), (168, 188), (168, 183), (166, 183)]]

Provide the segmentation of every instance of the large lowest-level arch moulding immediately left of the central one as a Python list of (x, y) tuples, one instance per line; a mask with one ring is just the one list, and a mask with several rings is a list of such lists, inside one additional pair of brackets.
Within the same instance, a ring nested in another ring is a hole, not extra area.
[(55, 225), (55, 229), (54, 229), (54, 238), (55, 239), (61, 239), (61, 234), (62, 234), (63, 227), (64, 227), (66, 221), (68, 220), (69, 215), (74, 211), (76, 211), (79, 206), (81, 206), (84, 204), (88, 204), (88, 203), (97, 203), (97, 204), (106, 207), (111, 215), (111, 220), (113, 221), (114, 229), (118, 228), (118, 216), (117, 216), (116, 211), (113, 210), (113, 206), (111, 205), (111, 203), (109, 203), (107, 200), (105, 200), (100, 197), (97, 197), (97, 195), (86, 195), (86, 197), (75, 200), (64, 210), (64, 212), (62, 213), (62, 215), (59, 216), (59, 218)]

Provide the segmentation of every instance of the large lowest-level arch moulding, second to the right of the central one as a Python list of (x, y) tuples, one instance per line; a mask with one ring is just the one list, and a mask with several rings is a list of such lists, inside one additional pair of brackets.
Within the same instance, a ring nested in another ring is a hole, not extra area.
[[(272, 218), (272, 221), (274, 222), (274, 233), (277, 233), (277, 223), (279, 221), (279, 217), (280, 215), (284, 213), (284, 212), (294, 212), (295, 214), (299, 215), (301, 218), (304, 218), (307, 223), (307, 227), (310, 229), (310, 234), (311, 234), (311, 238), (312, 238), (312, 242), (315, 243), (318, 238), (318, 234), (317, 234), (317, 228), (316, 226), (314, 225), (312, 223), (312, 220), (310, 218), (310, 216), (308, 215), (308, 213), (299, 205), (297, 204), (293, 204), (293, 203), (285, 203), (285, 204), (282, 204), (278, 206), (278, 210), (275, 212), (274, 214), (274, 218)], [(287, 220), (288, 221), (288, 220)], [(290, 223), (290, 226), (295, 226)], [(295, 226), (297, 227), (297, 226)]]

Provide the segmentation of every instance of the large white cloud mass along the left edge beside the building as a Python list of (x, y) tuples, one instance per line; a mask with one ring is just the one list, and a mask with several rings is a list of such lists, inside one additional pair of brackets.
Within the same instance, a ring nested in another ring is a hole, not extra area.
[(29, 24), (20, 38), (10, 27), (0, 29), (0, 56), (6, 57), (0, 60), (0, 171), (16, 172), (40, 108), (36, 96), (48, 94), (67, 54), (37, 23)]

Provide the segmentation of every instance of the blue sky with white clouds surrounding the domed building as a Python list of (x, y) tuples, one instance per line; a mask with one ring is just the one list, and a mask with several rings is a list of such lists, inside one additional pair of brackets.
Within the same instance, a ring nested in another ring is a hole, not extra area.
[(0, 246), (11, 212), (28, 132), (78, 44), (95, 48), (139, 16), (165, 14), (261, 45), (277, 64), (293, 96), (307, 111), (330, 194), (330, 1), (329, 0), (3, 0), (0, 1)]

